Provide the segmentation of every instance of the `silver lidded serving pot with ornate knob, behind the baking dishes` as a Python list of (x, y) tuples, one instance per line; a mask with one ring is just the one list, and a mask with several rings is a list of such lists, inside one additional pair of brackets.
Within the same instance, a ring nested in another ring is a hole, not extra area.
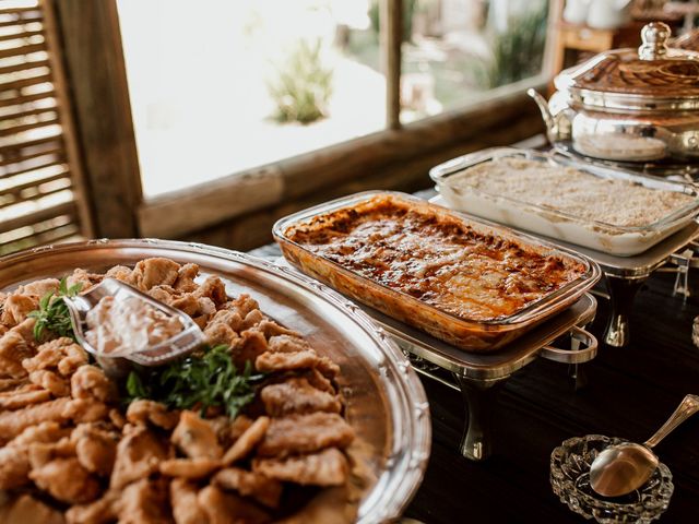
[(699, 162), (699, 52), (670, 48), (662, 22), (641, 36), (638, 50), (562, 71), (548, 103), (530, 90), (554, 145), (604, 160)]

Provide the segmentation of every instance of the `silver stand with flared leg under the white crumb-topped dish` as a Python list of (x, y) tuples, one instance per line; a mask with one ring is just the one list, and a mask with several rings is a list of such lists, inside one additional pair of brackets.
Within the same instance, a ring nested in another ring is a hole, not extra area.
[[(434, 196), (429, 201), (448, 207), (447, 202), (440, 195)], [(604, 343), (614, 347), (624, 347), (629, 344), (629, 317), (633, 309), (633, 299), (643, 283), (654, 271), (667, 262), (675, 263), (677, 267), (673, 269), (673, 271), (678, 273), (675, 288), (676, 291), (682, 291), (680, 277), (686, 274), (691, 264), (699, 265), (696, 259), (692, 262), (690, 255), (685, 252), (687, 247), (699, 239), (699, 224), (697, 222), (691, 222), (688, 226), (662, 240), (648, 251), (633, 257), (617, 257), (534, 233), (525, 233), (578, 251), (600, 264), (604, 273), (604, 281), (612, 306), (604, 332)], [(684, 289), (686, 287), (685, 285)]]

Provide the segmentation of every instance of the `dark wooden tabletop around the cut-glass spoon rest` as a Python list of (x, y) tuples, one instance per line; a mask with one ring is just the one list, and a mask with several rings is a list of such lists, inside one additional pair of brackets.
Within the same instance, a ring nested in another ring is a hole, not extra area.
[[(263, 249), (253, 254), (270, 255)], [(699, 275), (692, 275), (699, 284)], [(560, 442), (602, 433), (643, 442), (687, 393), (699, 393), (699, 349), (691, 343), (699, 306), (672, 296), (674, 275), (654, 274), (639, 293), (631, 344), (602, 346), (584, 365), (587, 388), (574, 392), (567, 366), (543, 359), (513, 374), (495, 413), (495, 454), (463, 458), (460, 393), (423, 378), (433, 419), (433, 450), (422, 487), (405, 516), (429, 524), (585, 522), (554, 496), (549, 456)], [(699, 286), (698, 286), (699, 287)], [(591, 331), (602, 338), (608, 311), (600, 299)], [(673, 473), (675, 493), (661, 523), (699, 521), (699, 415), (655, 449)]]

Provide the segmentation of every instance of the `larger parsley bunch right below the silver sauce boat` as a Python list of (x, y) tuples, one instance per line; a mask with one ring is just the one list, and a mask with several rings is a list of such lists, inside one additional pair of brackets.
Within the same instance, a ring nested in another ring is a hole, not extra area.
[(150, 398), (176, 409), (197, 406), (202, 417), (209, 407), (221, 406), (235, 418), (252, 402), (253, 385), (263, 376), (252, 374), (249, 360), (239, 373), (228, 352), (221, 345), (164, 367), (132, 370), (126, 383), (127, 403)]

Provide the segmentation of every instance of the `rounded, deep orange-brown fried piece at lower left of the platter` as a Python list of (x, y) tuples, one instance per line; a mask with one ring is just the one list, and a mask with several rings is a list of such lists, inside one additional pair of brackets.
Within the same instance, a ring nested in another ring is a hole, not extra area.
[(95, 500), (100, 492), (97, 479), (78, 458), (55, 458), (29, 472), (29, 478), (51, 497), (71, 504)]

